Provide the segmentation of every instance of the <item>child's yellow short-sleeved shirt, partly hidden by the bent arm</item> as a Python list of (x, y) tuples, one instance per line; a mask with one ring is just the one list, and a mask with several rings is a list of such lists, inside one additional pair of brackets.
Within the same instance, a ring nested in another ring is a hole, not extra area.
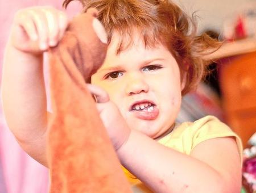
[[(177, 125), (171, 133), (158, 142), (184, 154), (191, 154), (193, 148), (200, 142), (217, 137), (234, 137), (242, 160), (242, 141), (226, 124), (214, 116), (205, 116), (193, 123), (185, 122)], [(134, 175), (125, 170), (133, 192), (152, 192)]]

